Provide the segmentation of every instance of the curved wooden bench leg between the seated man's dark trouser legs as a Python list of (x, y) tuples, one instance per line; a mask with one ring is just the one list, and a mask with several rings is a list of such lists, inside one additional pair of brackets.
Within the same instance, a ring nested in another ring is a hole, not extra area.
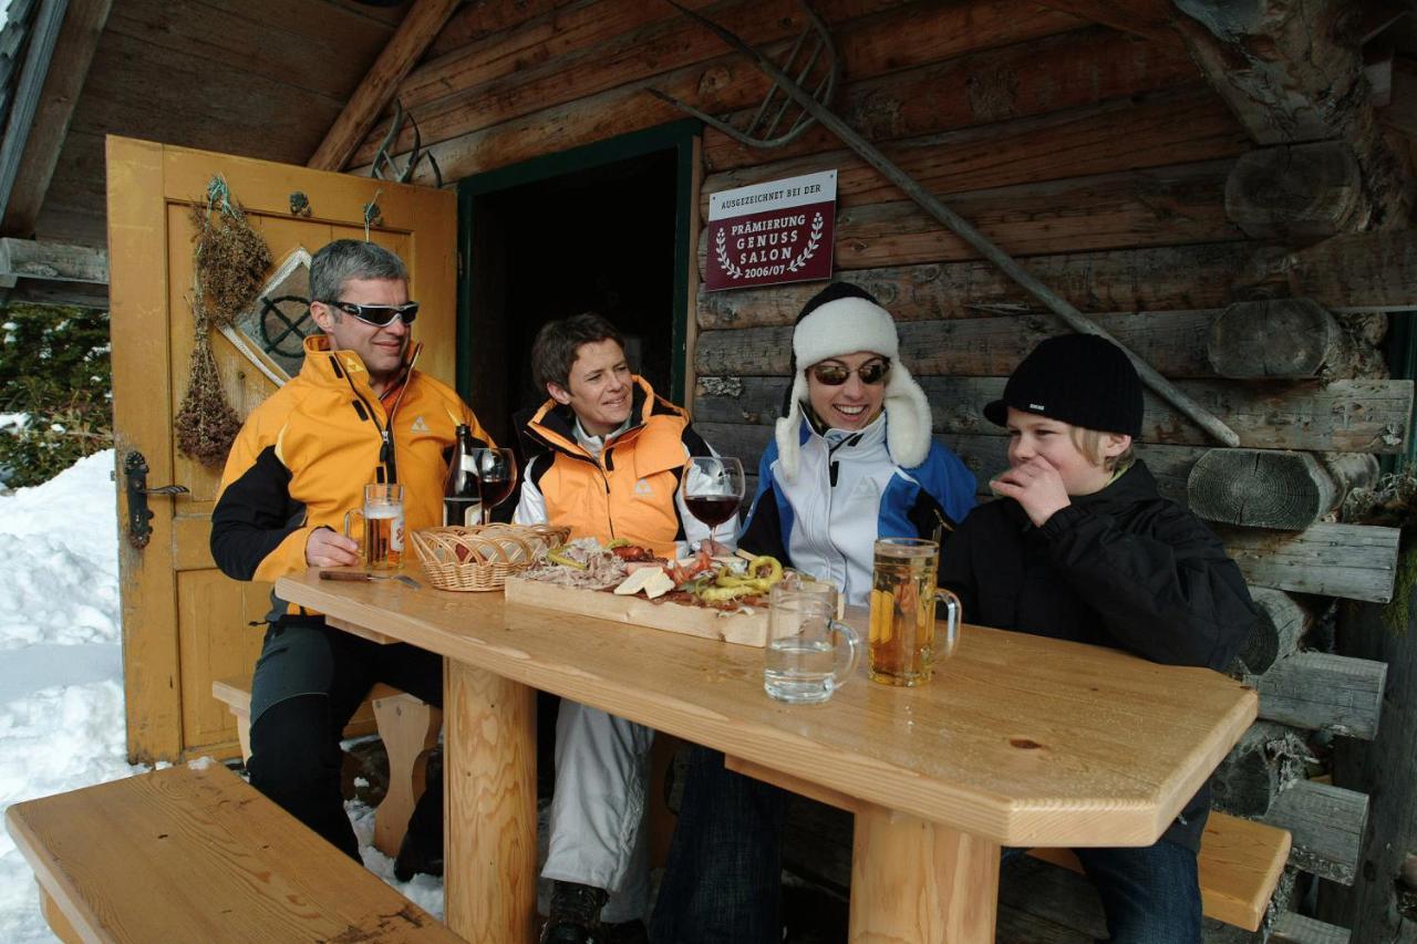
[(428, 753), (438, 744), (442, 712), (411, 695), (394, 695), (374, 699), (374, 719), (388, 753), (388, 792), (374, 811), (374, 848), (393, 859), (414, 804), (424, 794)]

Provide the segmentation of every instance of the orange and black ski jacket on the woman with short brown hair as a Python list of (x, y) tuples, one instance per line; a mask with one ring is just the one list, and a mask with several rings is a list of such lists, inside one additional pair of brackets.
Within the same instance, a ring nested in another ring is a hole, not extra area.
[(571, 408), (547, 400), (523, 429), (523, 489), (540, 492), (546, 520), (568, 526), (572, 539), (625, 539), (674, 557), (676, 541), (684, 540), (679, 479), (690, 455), (710, 449), (682, 407), (657, 397), (642, 377), (633, 380), (632, 425), (599, 458), (577, 442)]

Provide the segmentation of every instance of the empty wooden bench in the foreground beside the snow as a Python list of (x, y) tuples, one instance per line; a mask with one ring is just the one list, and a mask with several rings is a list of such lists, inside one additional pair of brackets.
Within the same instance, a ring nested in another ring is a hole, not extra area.
[(6, 826), (67, 944), (461, 940), (211, 761), (14, 804)]

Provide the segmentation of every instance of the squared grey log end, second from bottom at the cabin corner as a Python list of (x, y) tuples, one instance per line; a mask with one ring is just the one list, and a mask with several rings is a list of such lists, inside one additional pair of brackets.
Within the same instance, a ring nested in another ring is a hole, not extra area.
[(1299, 780), (1275, 797), (1263, 819), (1294, 833), (1289, 865), (1353, 884), (1367, 826), (1367, 794)]

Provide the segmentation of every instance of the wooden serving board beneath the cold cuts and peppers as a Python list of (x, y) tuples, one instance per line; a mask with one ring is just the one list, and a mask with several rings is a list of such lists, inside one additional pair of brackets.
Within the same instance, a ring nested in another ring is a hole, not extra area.
[(717, 609), (708, 607), (646, 600), (640, 594), (616, 597), (608, 590), (561, 587), (514, 575), (507, 577), (506, 590), (510, 604), (574, 612), (597, 619), (667, 629), (669, 632), (721, 639), (760, 649), (768, 645), (768, 611), (765, 608), (757, 609), (751, 615), (735, 612), (721, 617)]

